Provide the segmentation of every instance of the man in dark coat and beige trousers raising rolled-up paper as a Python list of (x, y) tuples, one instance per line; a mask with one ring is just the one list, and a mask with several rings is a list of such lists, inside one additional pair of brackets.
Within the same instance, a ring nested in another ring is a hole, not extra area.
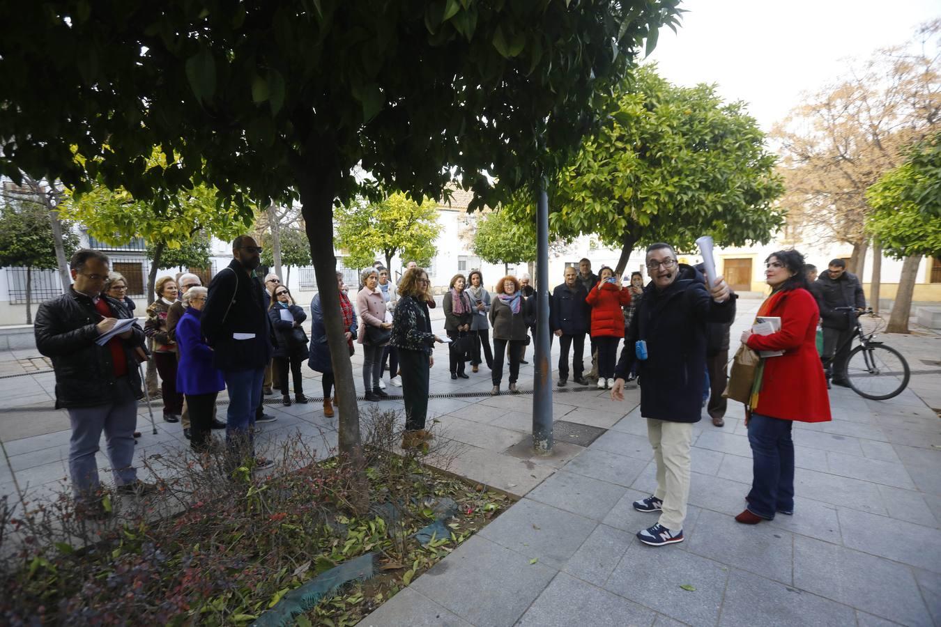
[[(646, 267), (651, 281), (634, 312), (611, 397), (624, 400), (624, 381), (640, 357), (641, 415), (657, 462), (657, 491), (633, 506), (662, 512), (657, 525), (637, 533), (640, 541), (662, 546), (684, 540), (690, 446), (693, 424), (701, 417), (706, 376), (706, 324), (733, 321), (735, 299), (722, 276), (707, 290), (702, 275), (678, 264), (676, 251), (667, 243), (647, 247)], [(644, 343), (641, 355), (636, 354), (638, 342)]]

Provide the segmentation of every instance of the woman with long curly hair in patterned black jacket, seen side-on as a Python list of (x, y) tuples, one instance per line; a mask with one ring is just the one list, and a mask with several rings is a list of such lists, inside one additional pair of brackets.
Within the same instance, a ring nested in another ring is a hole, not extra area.
[(392, 346), (402, 364), (402, 398), (406, 405), (403, 448), (421, 447), (431, 434), (424, 429), (428, 415), (429, 370), (435, 364), (432, 345), (440, 338), (431, 332), (428, 315), (428, 274), (409, 268), (399, 281), (399, 302), (392, 316)]

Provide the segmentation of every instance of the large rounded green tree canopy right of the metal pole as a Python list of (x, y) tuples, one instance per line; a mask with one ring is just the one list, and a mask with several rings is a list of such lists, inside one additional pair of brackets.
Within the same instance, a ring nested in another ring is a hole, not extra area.
[[(713, 86), (673, 86), (652, 66), (636, 71), (604, 102), (611, 114), (553, 181), (550, 230), (595, 234), (621, 249), (623, 272), (638, 244), (767, 242), (782, 222), (774, 155), (742, 102)], [(512, 205), (531, 216), (533, 203)]]

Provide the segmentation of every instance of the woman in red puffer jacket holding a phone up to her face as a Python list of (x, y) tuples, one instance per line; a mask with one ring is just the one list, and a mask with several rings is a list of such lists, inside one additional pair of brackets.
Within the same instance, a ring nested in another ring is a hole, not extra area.
[(621, 287), (614, 270), (601, 266), (598, 285), (588, 290), (585, 303), (591, 306), (591, 337), (598, 349), (598, 389), (614, 387), (617, 343), (624, 337), (621, 307), (630, 305), (630, 290)]

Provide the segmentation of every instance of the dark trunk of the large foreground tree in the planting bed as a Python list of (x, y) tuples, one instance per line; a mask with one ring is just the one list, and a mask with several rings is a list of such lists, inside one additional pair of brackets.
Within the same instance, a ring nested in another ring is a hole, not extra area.
[[(321, 176), (312, 174), (315, 165), (305, 164), (295, 172), (300, 191), (304, 225), (311, 243), (313, 271), (317, 278), (320, 304), (327, 330), (327, 346), (336, 386), (339, 406), (340, 454), (346, 458), (355, 473), (351, 499), (354, 509), (364, 512), (369, 507), (369, 484), (365, 476), (365, 458), (359, 435), (359, 407), (349, 348), (343, 336), (343, 314), (340, 310), (340, 290), (337, 286), (337, 258), (333, 254), (333, 198), (339, 177), (321, 167)], [(318, 180), (319, 179), (319, 180)]]

